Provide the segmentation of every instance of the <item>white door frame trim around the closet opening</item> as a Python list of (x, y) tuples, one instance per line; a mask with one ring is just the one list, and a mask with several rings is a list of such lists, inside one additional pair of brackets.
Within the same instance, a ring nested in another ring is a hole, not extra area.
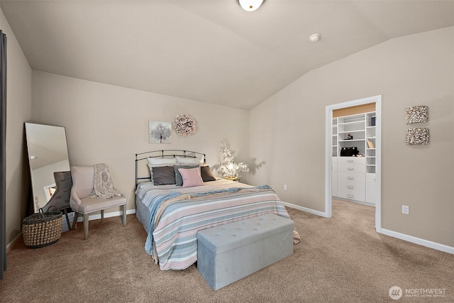
[(331, 218), (331, 182), (333, 167), (333, 110), (362, 104), (375, 103), (375, 231), (382, 231), (382, 95), (347, 101), (326, 106), (326, 150), (325, 150), (325, 216)]

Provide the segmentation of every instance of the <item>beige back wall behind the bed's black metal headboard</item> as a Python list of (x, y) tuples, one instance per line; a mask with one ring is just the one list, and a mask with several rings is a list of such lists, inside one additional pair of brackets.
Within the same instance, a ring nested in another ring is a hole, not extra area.
[[(135, 209), (135, 153), (184, 149), (216, 165), (226, 138), (238, 160), (247, 155), (248, 111), (33, 71), (33, 121), (65, 126), (70, 165), (109, 166), (114, 187)], [(190, 114), (197, 131), (172, 131), (171, 144), (148, 143), (148, 121)], [(145, 164), (145, 163), (144, 163)], [(115, 209), (113, 209), (115, 211)]]

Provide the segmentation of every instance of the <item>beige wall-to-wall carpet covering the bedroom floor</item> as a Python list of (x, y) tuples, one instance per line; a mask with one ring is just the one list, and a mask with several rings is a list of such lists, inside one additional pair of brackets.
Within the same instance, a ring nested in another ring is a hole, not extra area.
[[(57, 243), (8, 254), (0, 302), (454, 302), (454, 255), (375, 233), (370, 206), (333, 202), (333, 218), (289, 209), (301, 235), (294, 254), (221, 290), (192, 265), (162, 272), (128, 216), (90, 222)], [(445, 289), (445, 297), (394, 301), (389, 288)]]

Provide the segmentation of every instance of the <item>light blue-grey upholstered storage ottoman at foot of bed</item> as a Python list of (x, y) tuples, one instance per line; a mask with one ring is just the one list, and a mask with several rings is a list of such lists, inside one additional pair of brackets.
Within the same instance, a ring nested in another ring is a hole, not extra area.
[(214, 290), (293, 253), (294, 222), (275, 214), (197, 232), (197, 270)]

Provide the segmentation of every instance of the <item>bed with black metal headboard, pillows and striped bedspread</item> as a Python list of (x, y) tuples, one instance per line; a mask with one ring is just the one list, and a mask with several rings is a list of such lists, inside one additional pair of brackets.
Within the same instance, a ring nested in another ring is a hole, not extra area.
[(201, 229), (262, 214), (289, 218), (270, 187), (215, 177), (203, 153), (136, 154), (135, 182), (135, 214), (148, 235), (145, 251), (161, 270), (183, 270), (196, 262), (196, 233)]

